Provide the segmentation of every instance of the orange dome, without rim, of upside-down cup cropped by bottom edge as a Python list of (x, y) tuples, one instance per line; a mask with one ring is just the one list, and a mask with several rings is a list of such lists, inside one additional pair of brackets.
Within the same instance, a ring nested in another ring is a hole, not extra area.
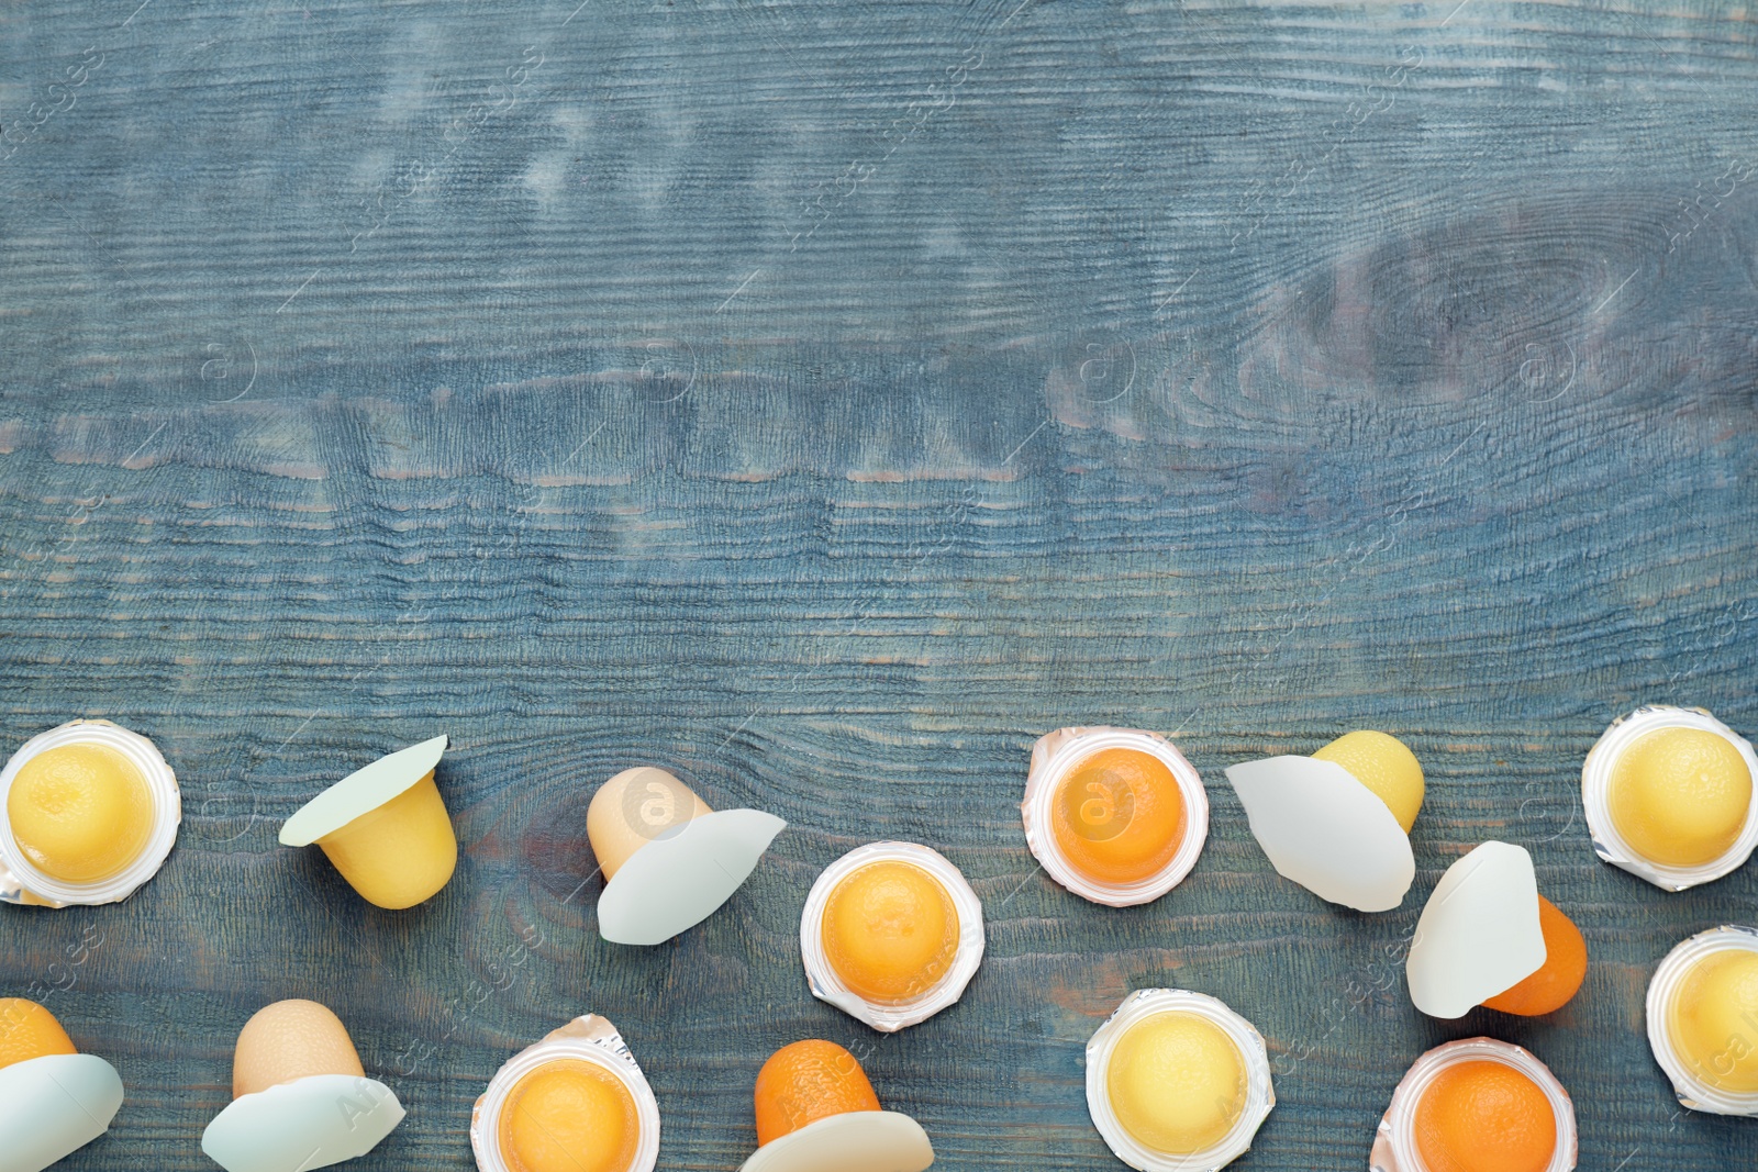
[(1417, 1102), (1415, 1130), (1429, 1172), (1545, 1172), (1556, 1154), (1551, 1100), (1500, 1061), (1440, 1072)]

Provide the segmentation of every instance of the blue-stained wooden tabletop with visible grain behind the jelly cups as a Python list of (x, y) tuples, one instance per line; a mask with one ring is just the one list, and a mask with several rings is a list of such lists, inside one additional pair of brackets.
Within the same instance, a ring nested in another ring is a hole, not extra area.
[[(585, 1010), (665, 1168), (737, 1168), (814, 1035), (948, 1172), (1113, 1168), (1083, 1045), (1153, 984), (1269, 1040), (1239, 1168), (1362, 1168), (1403, 1068), (1480, 1031), (1573, 1091), (1582, 1168), (1758, 1161), (1642, 1037), (1654, 963), (1758, 921), (1758, 877), (1665, 896), (1577, 796), (1635, 705), (1758, 733), (1744, 9), (575, 4), (0, 7), (0, 743), (109, 717), (186, 803), (134, 900), (0, 908), (0, 993), (128, 1088), (67, 1168), (213, 1167), (285, 996), (410, 1107), (362, 1172), (469, 1168), (490, 1074)], [(1148, 908), (1025, 850), (1030, 743), (1076, 722), (1210, 780)], [(1362, 726), (1429, 773), (1378, 917), (1280, 880), (1220, 773)], [(276, 845), (434, 733), (432, 903)], [(640, 763), (791, 824), (652, 951), (598, 940), (584, 842)], [(796, 956), (816, 873), (888, 836), (990, 921), (897, 1037)], [(1489, 836), (1587, 984), (1427, 1021), (1401, 942)]]

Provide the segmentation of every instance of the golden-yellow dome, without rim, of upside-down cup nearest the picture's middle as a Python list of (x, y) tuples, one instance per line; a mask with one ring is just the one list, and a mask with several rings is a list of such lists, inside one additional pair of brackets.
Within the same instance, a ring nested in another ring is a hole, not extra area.
[(958, 908), (946, 886), (914, 863), (868, 863), (832, 889), (825, 954), (851, 993), (907, 1002), (946, 977), (958, 952)]

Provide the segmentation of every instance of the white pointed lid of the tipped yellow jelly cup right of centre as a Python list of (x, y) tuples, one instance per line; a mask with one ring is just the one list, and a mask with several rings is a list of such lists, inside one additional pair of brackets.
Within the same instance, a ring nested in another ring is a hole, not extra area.
[(1405, 901), (1417, 875), (1410, 836), (1348, 770), (1313, 757), (1266, 757), (1227, 766), (1227, 780), (1278, 875), (1357, 912)]

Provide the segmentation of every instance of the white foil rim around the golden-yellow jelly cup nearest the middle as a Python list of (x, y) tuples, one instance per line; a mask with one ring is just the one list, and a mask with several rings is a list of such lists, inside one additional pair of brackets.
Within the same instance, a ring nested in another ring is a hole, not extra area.
[[(919, 866), (939, 880), (951, 896), (953, 907), (958, 908), (958, 945), (946, 972), (900, 1002), (870, 1002), (849, 989), (837, 975), (825, 949), (825, 907), (828, 907), (832, 893), (837, 884), (870, 863), (912, 863)], [(805, 961), (812, 996), (830, 1002), (881, 1033), (895, 1033), (933, 1017), (963, 996), (965, 986), (970, 984), (970, 977), (983, 963), (983, 901), (977, 900), (977, 893), (970, 889), (960, 870), (939, 850), (912, 842), (867, 843), (826, 866), (807, 893), (805, 912), (800, 915), (800, 956)]]

